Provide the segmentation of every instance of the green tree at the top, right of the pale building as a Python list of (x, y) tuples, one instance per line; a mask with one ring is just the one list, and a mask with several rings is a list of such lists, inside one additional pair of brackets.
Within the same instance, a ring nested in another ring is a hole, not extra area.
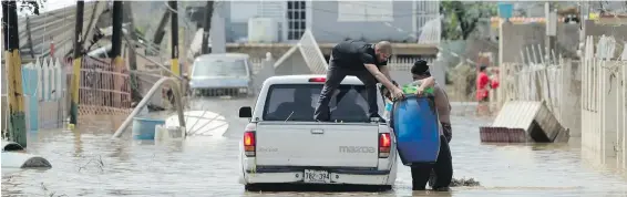
[(441, 1), (443, 14), (442, 39), (466, 40), (476, 29), (480, 19), (490, 19), (497, 13), (494, 2)]

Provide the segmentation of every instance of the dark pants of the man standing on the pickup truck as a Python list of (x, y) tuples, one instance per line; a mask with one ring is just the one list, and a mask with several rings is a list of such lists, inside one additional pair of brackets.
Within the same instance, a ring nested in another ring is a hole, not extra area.
[[(363, 65), (361, 65), (363, 66)], [(370, 117), (379, 116), (379, 106), (377, 105), (377, 79), (366, 68), (363, 70), (349, 70), (337, 65), (332, 60), (329, 62), (327, 71), (327, 81), (318, 100), (318, 107), (314, 113), (317, 121), (330, 121), (329, 102), (333, 92), (347, 75), (357, 76), (364, 85), (368, 95), (368, 113)]]

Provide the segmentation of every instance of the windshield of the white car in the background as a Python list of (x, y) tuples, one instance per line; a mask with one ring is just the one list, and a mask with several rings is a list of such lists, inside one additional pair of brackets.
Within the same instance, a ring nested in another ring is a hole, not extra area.
[(246, 60), (199, 60), (192, 76), (247, 76)]

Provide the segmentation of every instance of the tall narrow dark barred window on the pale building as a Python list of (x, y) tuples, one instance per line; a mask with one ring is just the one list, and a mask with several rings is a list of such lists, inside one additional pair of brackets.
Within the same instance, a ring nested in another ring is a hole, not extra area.
[(305, 1), (287, 1), (287, 40), (299, 40), (307, 29)]

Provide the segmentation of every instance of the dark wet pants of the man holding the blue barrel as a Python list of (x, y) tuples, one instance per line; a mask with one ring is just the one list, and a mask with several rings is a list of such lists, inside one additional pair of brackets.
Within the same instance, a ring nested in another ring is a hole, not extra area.
[(442, 123), (444, 135), (440, 136), (440, 154), (435, 164), (421, 164), (411, 167), (412, 187), (414, 190), (424, 189), (426, 183), (431, 188), (449, 187), (453, 179), (453, 159), (449, 143), (452, 138), (451, 125)]

